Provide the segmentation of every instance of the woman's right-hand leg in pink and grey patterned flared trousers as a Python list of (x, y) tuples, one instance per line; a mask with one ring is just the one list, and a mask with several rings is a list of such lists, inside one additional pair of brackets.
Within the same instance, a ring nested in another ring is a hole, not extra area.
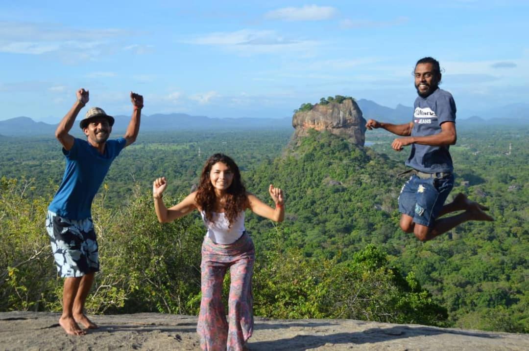
[(241, 351), (253, 332), (252, 274), (254, 257), (245, 257), (230, 267), (228, 300), (228, 351)]

